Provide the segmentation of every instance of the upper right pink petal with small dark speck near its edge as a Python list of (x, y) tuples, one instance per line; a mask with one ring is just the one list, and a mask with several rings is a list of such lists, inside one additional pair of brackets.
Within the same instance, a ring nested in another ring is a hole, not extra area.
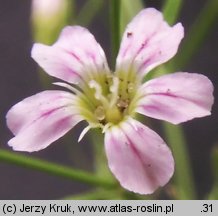
[(183, 36), (180, 23), (170, 27), (161, 12), (154, 8), (142, 10), (124, 32), (117, 70), (128, 71), (133, 67), (140, 75), (145, 75), (176, 54)]

